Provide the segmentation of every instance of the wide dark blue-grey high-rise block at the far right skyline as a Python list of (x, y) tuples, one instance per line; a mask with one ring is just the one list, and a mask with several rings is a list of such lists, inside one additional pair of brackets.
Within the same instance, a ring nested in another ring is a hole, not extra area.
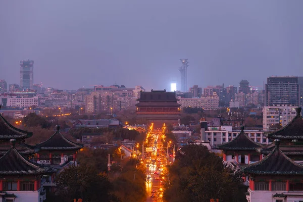
[(303, 79), (297, 76), (271, 76), (265, 84), (265, 106), (300, 105), (299, 82)]

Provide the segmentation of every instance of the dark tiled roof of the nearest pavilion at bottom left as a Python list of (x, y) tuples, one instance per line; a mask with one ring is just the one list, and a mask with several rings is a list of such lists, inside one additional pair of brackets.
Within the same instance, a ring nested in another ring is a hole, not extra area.
[(15, 139), (11, 139), (11, 143), (11, 148), (0, 158), (0, 175), (36, 175), (45, 172), (45, 169), (30, 162), (17, 151)]

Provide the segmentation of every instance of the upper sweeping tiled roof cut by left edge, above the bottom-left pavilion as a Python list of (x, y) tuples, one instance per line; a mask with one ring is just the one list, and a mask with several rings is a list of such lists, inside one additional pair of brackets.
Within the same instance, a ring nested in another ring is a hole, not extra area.
[(32, 132), (15, 128), (0, 114), (0, 139), (25, 139), (32, 135)]

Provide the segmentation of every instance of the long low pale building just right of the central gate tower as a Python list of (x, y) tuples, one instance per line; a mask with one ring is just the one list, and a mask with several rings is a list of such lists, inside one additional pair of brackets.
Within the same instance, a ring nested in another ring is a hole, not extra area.
[(203, 96), (200, 98), (181, 98), (178, 97), (177, 103), (180, 104), (181, 108), (201, 108), (205, 111), (218, 110), (219, 108), (219, 97), (218, 96)]

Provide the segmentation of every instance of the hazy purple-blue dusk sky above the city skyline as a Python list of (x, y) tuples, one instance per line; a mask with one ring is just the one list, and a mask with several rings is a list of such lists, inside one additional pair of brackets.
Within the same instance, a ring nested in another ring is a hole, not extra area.
[(0, 1), (0, 79), (77, 89), (112, 84), (181, 89), (263, 87), (268, 76), (303, 76), (303, 1)]

